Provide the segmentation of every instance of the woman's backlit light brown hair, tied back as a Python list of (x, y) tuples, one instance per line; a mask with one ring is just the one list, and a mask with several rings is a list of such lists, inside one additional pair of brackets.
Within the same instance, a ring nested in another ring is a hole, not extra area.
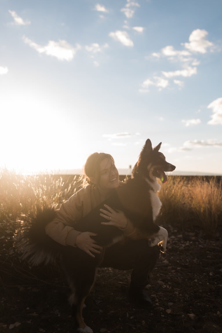
[(80, 177), (82, 187), (86, 187), (89, 184), (93, 184), (90, 178), (94, 178), (95, 183), (100, 179), (100, 162), (109, 158), (114, 163), (114, 159), (110, 154), (106, 153), (93, 153), (91, 154), (83, 167), (83, 173)]

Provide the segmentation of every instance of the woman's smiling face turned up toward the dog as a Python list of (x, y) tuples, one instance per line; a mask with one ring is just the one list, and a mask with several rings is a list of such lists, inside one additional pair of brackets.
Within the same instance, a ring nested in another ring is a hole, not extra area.
[(100, 162), (99, 186), (102, 189), (113, 189), (119, 186), (119, 173), (111, 159)]

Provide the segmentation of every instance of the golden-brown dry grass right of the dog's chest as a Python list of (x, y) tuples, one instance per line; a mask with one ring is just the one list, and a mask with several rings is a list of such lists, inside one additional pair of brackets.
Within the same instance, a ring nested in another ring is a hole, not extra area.
[(170, 176), (159, 192), (159, 219), (172, 226), (197, 225), (207, 236), (222, 226), (222, 178)]

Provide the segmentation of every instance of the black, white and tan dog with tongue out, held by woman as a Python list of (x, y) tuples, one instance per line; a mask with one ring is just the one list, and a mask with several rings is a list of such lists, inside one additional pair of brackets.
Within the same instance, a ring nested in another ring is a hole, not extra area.
[[(93, 209), (88, 215), (74, 224), (78, 231), (90, 231), (97, 234), (96, 242), (108, 247), (122, 240), (122, 231), (115, 226), (109, 230), (101, 222), (100, 208), (104, 204), (113, 209), (122, 210), (127, 218), (137, 228), (141, 238), (147, 238), (150, 246), (159, 245), (162, 252), (166, 249), (167, 230), (155, 224), (161, 202), (157, 196), (160, 184), (167, 182), (166, 171), (173, 171), (175, 166), (166, 162), (165, 156), (159, 152), (161, 143), (152, 148), (151, 141), (146, 140), (137, 163), (132, 169), (131, 177), (126, 183), (113, 190), (111, 196)], [(45, 233), (45, 226), (56, 217), (54, 207), (38, 207), (33, 216), (28, 219), (29, 227), (20, 236), (18, 248), (23, 252), (22, 258), (28, 259), (33, 265), (41, 262), (49, 263), (56, 257), (60, 257), (63, 270), (66, 273), (71, 288), (69, 301), (72, 305), (73, 315), (77, 325), (77, 331), (92, 333), (82, 317), (84, 302), (90, 293), (96, 274), (96, 269), (101, 262), (101, 255), (95, 254), (95, 258), (86, 252), (72, 246), (63, 246), (52, 240)], [(92, 223), (93, 221), (93, 223)], [(107, 221), (107, 220), (106, 220)]]

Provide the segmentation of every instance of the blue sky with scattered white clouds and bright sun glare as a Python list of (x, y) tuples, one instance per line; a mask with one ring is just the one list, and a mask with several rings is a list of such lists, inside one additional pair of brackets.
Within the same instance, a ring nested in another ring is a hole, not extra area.
[(0, 167), (222, 174), (222, 1), (98, 1), (0, 1)]

